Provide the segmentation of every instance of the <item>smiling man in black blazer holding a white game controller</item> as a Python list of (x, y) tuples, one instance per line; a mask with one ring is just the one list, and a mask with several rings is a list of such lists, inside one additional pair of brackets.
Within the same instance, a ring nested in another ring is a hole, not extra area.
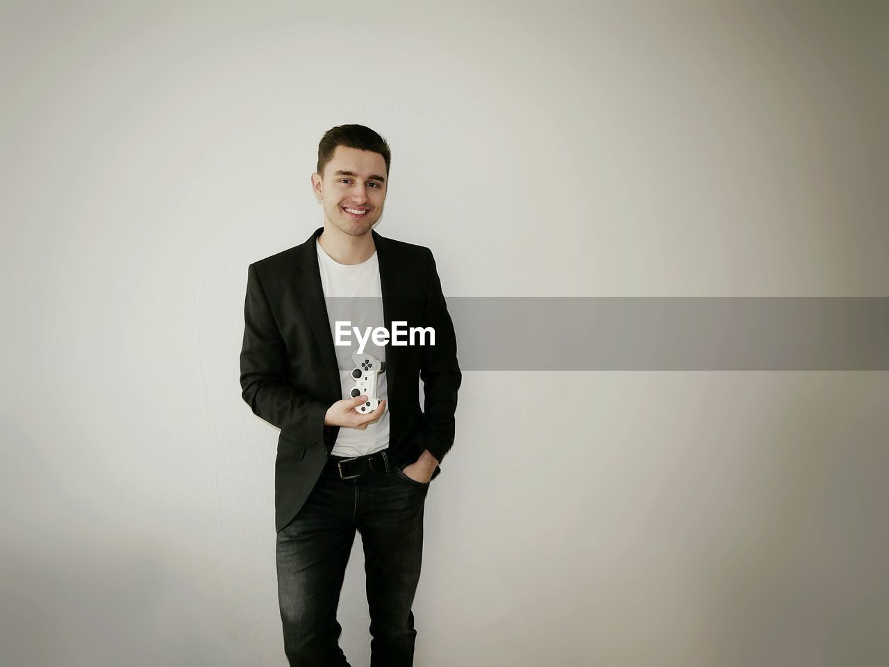
[[(386, 201), (389, 163), (388, 145), (375, 131), (327, 131), (312, 174), (324, 226), (254, 262), (247, 274), (241, 387), (253, 412), (281, 429), (276, 563), (291, 665), (348, 666), (336, 611), (356, 530), (364, 546), (371, 664), (413, 662), (423, 508), (453, 445), (461, 371), (432, 253), (372, 230)], [(360, 414), (356, 407), (368, 397), (350, 395), (358, 343), (353, 337), (351, 345), (334, 345), (334, 338), (341, 342), (348, 325), (356, 333), (391, 332), (393, 322), (432, 328), (435, 345), (367, 339), (363, 353), (385, 370), (379, 407)]]

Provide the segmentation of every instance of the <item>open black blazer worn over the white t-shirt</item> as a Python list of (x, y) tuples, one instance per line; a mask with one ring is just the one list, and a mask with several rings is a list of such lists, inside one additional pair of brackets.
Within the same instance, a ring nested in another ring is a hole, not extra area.
[[(281, 429), (275, 463), (277, 531), (300, 511), (340, 431), (324, 426), (327, 409), (343, 397), (315, 247), (323, 231), (316, 229), (306, 242), (247, 270), (241, 395), (256, 415)], [(386, 328), (392, 330), (395, 321), (436, 332), (434, 346), (386, 345), (388, 453), (400, 465), (428, 449), (440, 462), (453, 445), (461, 371), (436, 262), (428, 248), (371, 234)], [(436, 466), (432, 478), (439, 472)]]

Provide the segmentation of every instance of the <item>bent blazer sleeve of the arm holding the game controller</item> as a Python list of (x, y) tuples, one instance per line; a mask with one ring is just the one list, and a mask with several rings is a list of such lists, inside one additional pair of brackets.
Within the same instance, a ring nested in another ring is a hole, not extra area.
[(287, 380), (286, 344), (268, 305), (256, 266), (247, 269), (244, 344), (241, 347), (241, 396), (253, 413), (283, 431), (324, 442), (324, 415), (330, 407)]

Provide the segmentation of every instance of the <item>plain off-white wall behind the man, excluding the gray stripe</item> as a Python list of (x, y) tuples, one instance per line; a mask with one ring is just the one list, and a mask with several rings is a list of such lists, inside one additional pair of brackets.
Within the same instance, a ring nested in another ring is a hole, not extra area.
[[(885, 9), (703, 5), (4, 3), (8, 663), (285, 664), (237, 356), (333, 125), (450, 296), (887, 296)], [(886, 378), (469, 371), (417, 664), (885, 664)]]

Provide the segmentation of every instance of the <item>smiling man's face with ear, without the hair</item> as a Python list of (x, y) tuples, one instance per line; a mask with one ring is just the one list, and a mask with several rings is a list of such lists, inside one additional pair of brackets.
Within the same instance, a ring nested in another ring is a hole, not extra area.
[(367, 234), (383, 214), (386, 161), (379, 153), (336, 147), (324, 167), (324, 178), (312, 174), (312, 187), (324, 205), (324, 224), (350, 236)]

